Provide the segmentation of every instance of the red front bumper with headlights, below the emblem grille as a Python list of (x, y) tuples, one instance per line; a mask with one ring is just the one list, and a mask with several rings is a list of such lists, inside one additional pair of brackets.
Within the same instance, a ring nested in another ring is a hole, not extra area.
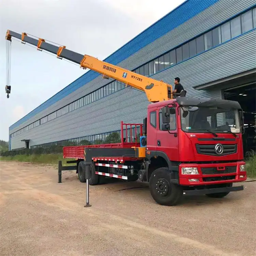
[[(243, 182), (247, 179), (246, 171), (240, 171), (240, 165), (245, 165), (244, 161), (233, 163), (207, 163), (207, 164), (188, 164), (179, 165), (179, 184), (182, 186), (202, 186), (212, 184), (224, 184)], [(196, 167), (198, 174), (182, 174), (182, 167)], [(225, 172), (225, 169), (233, 168), (232, 172)], [(217, 171), (212, 173), (203, 173), (204, 168), (213, 168)]]

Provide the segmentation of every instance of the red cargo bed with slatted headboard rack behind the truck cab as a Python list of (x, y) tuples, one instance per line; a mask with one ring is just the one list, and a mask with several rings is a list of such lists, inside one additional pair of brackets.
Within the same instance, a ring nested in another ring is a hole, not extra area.
[[(125, 128), (124, 128), (125, 126)], [(132, 138), (132, 129), (135, 130), (134, 137), (135, 141), (137, 141), (137, 129), (140, 129), (140, 136), (142, 135), (142, 124), (125, 124), (123, 121), (121, 122), (121, 142), (120, 143), (112, 143), (112, 144), (98, 144), (98, 145), (81, 145), (81, 146), (65, 146), (63, 147), (63, 158), (75, 158), (75, 159), (83, 159), (84, 158), (84, 148), (85, 147), (100, 147), (100, 148), (130, 148), (130, 147), (139, 147), (139, 142), (126, 142), (125, 139), (128, 138), (128, 129), (130, 133), (130, 138)], [(125, 138), (124, 138), (125, 133)], [(102, 156), (104, 158), (104, 156)], [(120, 157), (118, 159), (109, 158), (108, 159), (97, 158), (98, 160), (113, 160), (120, 161)], [(93, 159), (96, 160), (96, 159)], [(123, 160), (123, 159), (122, 159)]]

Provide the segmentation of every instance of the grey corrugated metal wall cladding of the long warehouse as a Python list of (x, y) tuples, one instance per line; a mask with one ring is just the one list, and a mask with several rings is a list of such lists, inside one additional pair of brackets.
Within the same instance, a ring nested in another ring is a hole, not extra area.
[[(253, 1), (248, 0), (242, 2), (242, 6), (240, 5), (240, 3), (237, 4), (235, 7), (232, 6), (236, 11), (232, 12), (231, 10), (230, 15), (226, 14), (227, 17), (224, 15), (224, 13), (217, 12), (222, 17), (220, 19), (224, 20), (225, 17), (228, 18), (233, 16), (234, 13), (238, 13), (239, 11), (245, 9), (246, 4), (251, 5)], [(218, 8), (217, 10), (226, 10), (228, 9), (228, 7), (230, 8), (230, 2), (228, 4), (227, 1), (219, 1), (215, 4), (215, 6), (217, 6)], [(215, 16), (211, 16), (213, 17), (211, 19), (214, 20), (209, 21), (208, 12), (212, 11), (214, 13), (215, 6), (210, 7), (209, 9), (192, 19), (192, 21), (194, 20), (194, 27), (197, 28), (193, 35), (197, 35), (197, 31), (201, 31), (200, 29), (202, 28), (200, 27), (200, 24), (205, 29), (211, 28), (216, 25), (217, 22), (220, 22), (220, 20), (218, 20)], [(202, 20), (206, 20), (205, 13), (207, 13), (208, 15), (208, 25), (205, 25), (206, 23), (202, 23)], [(204, 18), (202, 18), (201, 16), (203, 16)], [(187, 23), (191, 23), (192, 21), (189, 21)], [(180, 31), (180, 37), (184, 36), (184, 34), (186, 33), (191, 34), (191, 31), (193, 31), (193, 29), (191, 28), (186, 29), (184, 25), (180, 26), (181, 30), (176, 31), (176, 34), (178, 33), (178, 31)], [(186, 31), (186, 33), (184, 31)], [(167, 37), (167, 35), (165, 37)], [(174, 38), (174, 35), (170, 34), (169, 37)], [(185, 36), (184, 38), (186, 38), (187, 40), (191, 39), (191, 37), (188, 38)], [(210, 51), (205, 52), (199, 56), (175, 65), (168, 70), (155, 74), (153, 78), (159, 80), (163, 79), (165, 82), (172, 84), (173, 78), (178, 75), (182, 79), (181, 83), (188, 91), (188, 96), (211, 96), (220, 98), (221, 92), (219, 90), (213, 89), (213, 91), (211, 92), (195, 91), (192, 87), (254, 68), (255, 55), (252, 54), (253, 51), (255, 51), (254, 40), (255, 31), (252, 31), (250, 33), (242, 35), (239, 38), (231, 40), (230, 42), (213, 48)], [(171, 40), (169, 39), (169, 41)], [(179, 42), (181, 43), (184, 41), (185, 39), (181, 38)], [(165, 41), (164, 43), (162, 43), (162, 45), (165, 46), (167, 43), (168, 40), (167, 38), (165, 38)], [(176, 43), (176, 45), (177, 44), (179, 43)], [(151, 44), (152, 52), (154, 52), (157, 47), (159, 47), (158, 40)], [(239, 49), (239, 51), (236, 51), (236, 49)], [(150, 51), (148, 50), (148, 52)], [(164, 50), (159, 48), (158, 54), (157, 52), (155, 52), (153, 55), (150, 56), (156, 57), (163, 52)], [(134, 59), (135, 55), (137, 55), (136, 59)], [(139, 64), (144, 63), (144, 61), (138, 61), (139, 58), (143, 60), (144, 56), (145, 52), (143, 49), (137, 54), (134, 54), (127, 60), (123, 61), (121, 63), (122, 65), (120, 66), (126, 68), (129, 68), (128, 66), (130, 66), (131, 68), (129, 69), (135, 68)], [(133, 62), (130, 62), (130, 60), (132, 59)], [(150, 60), (151, 58), (147, 56), (145, 59)], [(55, 106), (51, 106), (46, 111), (42, 111), (42, 113), (40, 113), (40, 117), (59, 109), (61, 106), (64, 105), (64, 102), (65, 104), (72, 102), (73, 100), (93, 91), (96, 88), (101, 87), (104, 84), (106, 84), (106, 80), (103, 80), (101, 76), (98, 77), (94, 81), (91, 81), (90, 83), (78, 89), (71, 95), (67, 96), (65, 99), (60, 100), (57, 104), (55, 104)], [(147, 104), (148, 102), (143, 92), (131, 88), (126, 88), (113, 95), (110, 95), (106, 98), (84, 106), (83, 108), (77, 109), (76, 111), (61, 116), (60, 118), (54, 119), (48, 123), (33, 128), (28, 132), (20, 134), (19, 136), (13, 137), (11, 139), (11, 148), (13, 149), (23, 147), (25, 143), (20, 142), (20, 140), (25, 138), (31, 139), (30, 145), (38, 145), (52, 141), (77, 138), (86, 135), (117, 130), (120, 127), (119, 124), (120, 120), (122, 119), (125, 122), (142, 122), (142, 119), (146, 114)], [(113, 108), (114, 105), (115, 107)], [(131, 115), (131, 113), (134, 114)], [(92, 115), (94, 115), (95, 117), (92, 118)], [(29, 122), (26, 122), (26, 124), (24, 123), (23, 125), (15, 128), (14, 130), (12, 130), (12, 132), (37, 120), (39, 118), (39, 115), (37, 116), (37, 118), (30, 119)], [(72, 122), (75, 122), (75, 125), (72, 125)]]

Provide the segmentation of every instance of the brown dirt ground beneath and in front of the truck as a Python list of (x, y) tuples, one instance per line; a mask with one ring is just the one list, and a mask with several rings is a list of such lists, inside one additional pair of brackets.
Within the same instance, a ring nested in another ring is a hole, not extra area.
[[(0, 255), (256, 255), (256, 182), (165, 207), (147, 184), (90, 186), (75, 171), (0, 162)], [(131, 189), (125, 189), (131, 188)], [(125, 190), (122, 190), (125, 189)]]

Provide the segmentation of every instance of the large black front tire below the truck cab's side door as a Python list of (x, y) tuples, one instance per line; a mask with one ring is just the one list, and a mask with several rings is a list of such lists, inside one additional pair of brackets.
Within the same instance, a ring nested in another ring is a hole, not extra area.
[(176, 205), (182, 198), (183, 189), (170, 182), (168, 168), (154, 170), (150, 176), (149, 187), (151, 196), (158, 204)]

